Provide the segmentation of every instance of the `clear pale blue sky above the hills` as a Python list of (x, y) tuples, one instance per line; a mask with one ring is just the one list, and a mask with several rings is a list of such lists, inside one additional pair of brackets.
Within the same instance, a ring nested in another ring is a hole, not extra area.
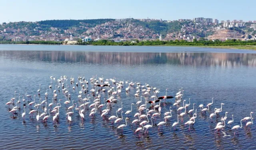
[(0, 0), (0, 23), (129, 17), (256, 20), (256, 0)]

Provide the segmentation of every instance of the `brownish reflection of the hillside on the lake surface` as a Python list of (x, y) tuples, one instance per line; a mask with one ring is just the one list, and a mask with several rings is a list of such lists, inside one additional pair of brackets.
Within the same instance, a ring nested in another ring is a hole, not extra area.
[(72, 51), (0, 51), (8, 59), (97, 64), (180, 64), (193, 66), (256, 66), (256, 54), (233, 53), (134, 53)]

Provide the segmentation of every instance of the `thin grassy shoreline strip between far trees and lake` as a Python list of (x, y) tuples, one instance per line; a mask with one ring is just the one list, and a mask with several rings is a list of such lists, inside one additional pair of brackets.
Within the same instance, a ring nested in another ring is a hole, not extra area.
[[(117, 46), (117, 45), (78, 45), (78, 44), (0, 44), (0, 45), (52, 45), (52, 46)], [(130, 46), (140, 46), (140, 45), (130, 45)], [(198, 48), (220, 48), (220, 49), (233, 49), (233, 50), (256, 50), (255, 45), (240, 45), (240, 46), (203, 46), (203, 45), (142, 45), (142, 46), (156, 46), (156, 47), (166, 47), (166, 46), (178, 46), (178, 47), (198, 47)]]

